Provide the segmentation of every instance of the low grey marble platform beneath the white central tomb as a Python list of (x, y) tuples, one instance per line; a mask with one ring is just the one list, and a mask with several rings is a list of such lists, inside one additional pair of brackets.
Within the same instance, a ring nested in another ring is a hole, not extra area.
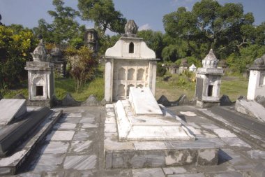
[(119, 141), (114, 104), (107, 104), (105, 109), (105, 169), (202, 166), (218, 163), (219, 148), (207, 139)]

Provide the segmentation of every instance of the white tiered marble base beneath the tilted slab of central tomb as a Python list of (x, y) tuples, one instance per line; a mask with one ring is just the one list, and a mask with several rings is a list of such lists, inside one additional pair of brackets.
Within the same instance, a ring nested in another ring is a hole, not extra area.
[[(120, 140), (195, 140), (165, 107), (159, 108), (163, 115), (135, 115), (127, 99), (117, 101), (115, 108)], [(109, 125), (105, 124), (105, 132)]]

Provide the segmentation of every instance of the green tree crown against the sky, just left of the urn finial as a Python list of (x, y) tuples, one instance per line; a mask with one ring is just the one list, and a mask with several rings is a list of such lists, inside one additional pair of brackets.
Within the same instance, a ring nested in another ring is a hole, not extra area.
[(110, 31), (122, 34), (126, 24), (126, 18), (115, 10), (112, 0), (78, 0), (78, 8), (83, 20), (93, 21), (95, 27), (105, 34)]

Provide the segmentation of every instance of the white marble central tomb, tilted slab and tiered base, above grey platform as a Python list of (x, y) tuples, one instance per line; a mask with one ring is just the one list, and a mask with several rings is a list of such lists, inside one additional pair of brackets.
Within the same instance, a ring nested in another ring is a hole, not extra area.
[(175, 115), (156, 103), (149, 87), (130, 88), (129, 99), (115, 104), (120, 140), (195, 140)]

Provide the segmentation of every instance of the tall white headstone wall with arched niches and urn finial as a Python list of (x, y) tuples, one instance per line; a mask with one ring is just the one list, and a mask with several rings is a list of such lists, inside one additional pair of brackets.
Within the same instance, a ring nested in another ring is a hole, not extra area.
[(133, 20), (126, 24), (119, 41), (105, 52), (105, 100), (107, 103), (126, 99), (130, 87), (156, 90), (156, 54), (138, 38)]

